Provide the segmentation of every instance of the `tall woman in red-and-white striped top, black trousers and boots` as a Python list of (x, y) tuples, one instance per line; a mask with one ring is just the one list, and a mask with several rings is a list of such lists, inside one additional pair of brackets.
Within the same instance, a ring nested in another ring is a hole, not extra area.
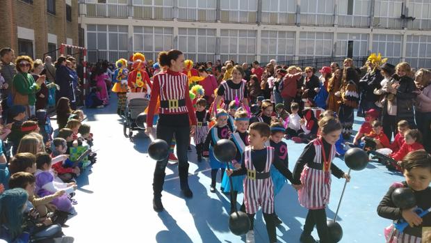
[[(146, 134), (152, 134), (155, 107), (160, 100), (158, 108), (158, 122), (156, 129), (157, 139), (170, 144), (175, 136), (177, 141), (177, 157), (179, 160), (178, 174), (181, 192), (186, 198), (193, 197), (188, 187), (188, 158), (187, 148), (190, 135), (193, 136), (197, 124), (195, 111), (188, 93), (188, 78), (182, 73), (184, 68), (184, 54), (177, 49), (158, 54), (158, 63), (168, 66), (166, 71), (159, 72), (153, 77), (152, 95), (149, 100), (147, 112)], [(191, 124), (190, 124), (191, 122)], [(168, 158), (156, 163), (153, 178), (153, 209), (163, 211), (161, 192), (165, 182), (165, 168)]]

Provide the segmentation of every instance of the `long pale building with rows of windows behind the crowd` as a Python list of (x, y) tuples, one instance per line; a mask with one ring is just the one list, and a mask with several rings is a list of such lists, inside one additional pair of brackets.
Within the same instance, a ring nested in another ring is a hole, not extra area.
[(178, 48), (238, 63), (368, 56), (431, 68), (430, 0), (80, 0), (89, 61)]

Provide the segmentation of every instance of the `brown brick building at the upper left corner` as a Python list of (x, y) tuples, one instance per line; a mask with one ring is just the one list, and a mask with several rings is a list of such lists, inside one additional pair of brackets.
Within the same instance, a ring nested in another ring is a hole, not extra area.
[(62, 43), (78, 45), (78, 0), (3, 0), (0, 8), (0, 48), (15, 56), (56, 58)]

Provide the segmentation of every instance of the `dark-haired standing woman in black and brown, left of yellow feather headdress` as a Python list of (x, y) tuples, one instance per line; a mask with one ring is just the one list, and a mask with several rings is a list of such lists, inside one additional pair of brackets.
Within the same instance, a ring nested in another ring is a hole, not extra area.
[(357, 86), (353, 80), (356, 77), (356, 71), (353, 68), (345, 68), (343, 70), (343, 84), (339, 92), (335, 95), (341, 97), (341, 105), (339, 109), (339, 119), (343, 125), (343, 138), (350, 139), (352, 134), (352, 126), (354, 121), (353, 109), (358, 107), (359, 94)]

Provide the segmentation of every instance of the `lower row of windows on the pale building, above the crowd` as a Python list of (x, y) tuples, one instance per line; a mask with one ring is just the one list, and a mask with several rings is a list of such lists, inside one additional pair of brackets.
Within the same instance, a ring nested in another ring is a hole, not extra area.
[[(220, 30), (220, 45), (217, 47), (215, 29), (179, 28), (174, 39), (171, 27), (133, 26), (133, 50), (129, 49), (128, 27), (113, 25), (87, 26), (87, 47), (99, 52), (144, 52), (155, 58), (154, 54), (166, 49), (178, 48), (188, 55), (195, 55), (197, 61), (208, 58), (206, 55), (255, 56), (257, 49), (257, 31)], [(366, 56), (368, 54), (368, 34), (300, 32), (295, 36), (291, 31), (261, 31), (261, 55), (293, 56), (295, 39), (299, 38), (300, 56)], [(401, 35), (374, 34), (371, 52), (380, 52), (383, 56), (399, 58), (402, 49)], [(431, 36), (408, 36), (406, 57), (431, 58)], [(115, 61), (108, 57), (110, 61)]]

